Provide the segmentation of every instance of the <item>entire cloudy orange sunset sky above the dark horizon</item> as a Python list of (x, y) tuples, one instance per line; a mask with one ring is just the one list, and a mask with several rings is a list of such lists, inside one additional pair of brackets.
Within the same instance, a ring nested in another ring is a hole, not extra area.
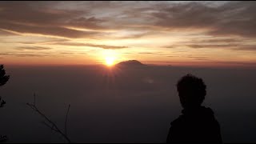
[(0, 62), (256, 66), (256, 2), (0, 2)]

